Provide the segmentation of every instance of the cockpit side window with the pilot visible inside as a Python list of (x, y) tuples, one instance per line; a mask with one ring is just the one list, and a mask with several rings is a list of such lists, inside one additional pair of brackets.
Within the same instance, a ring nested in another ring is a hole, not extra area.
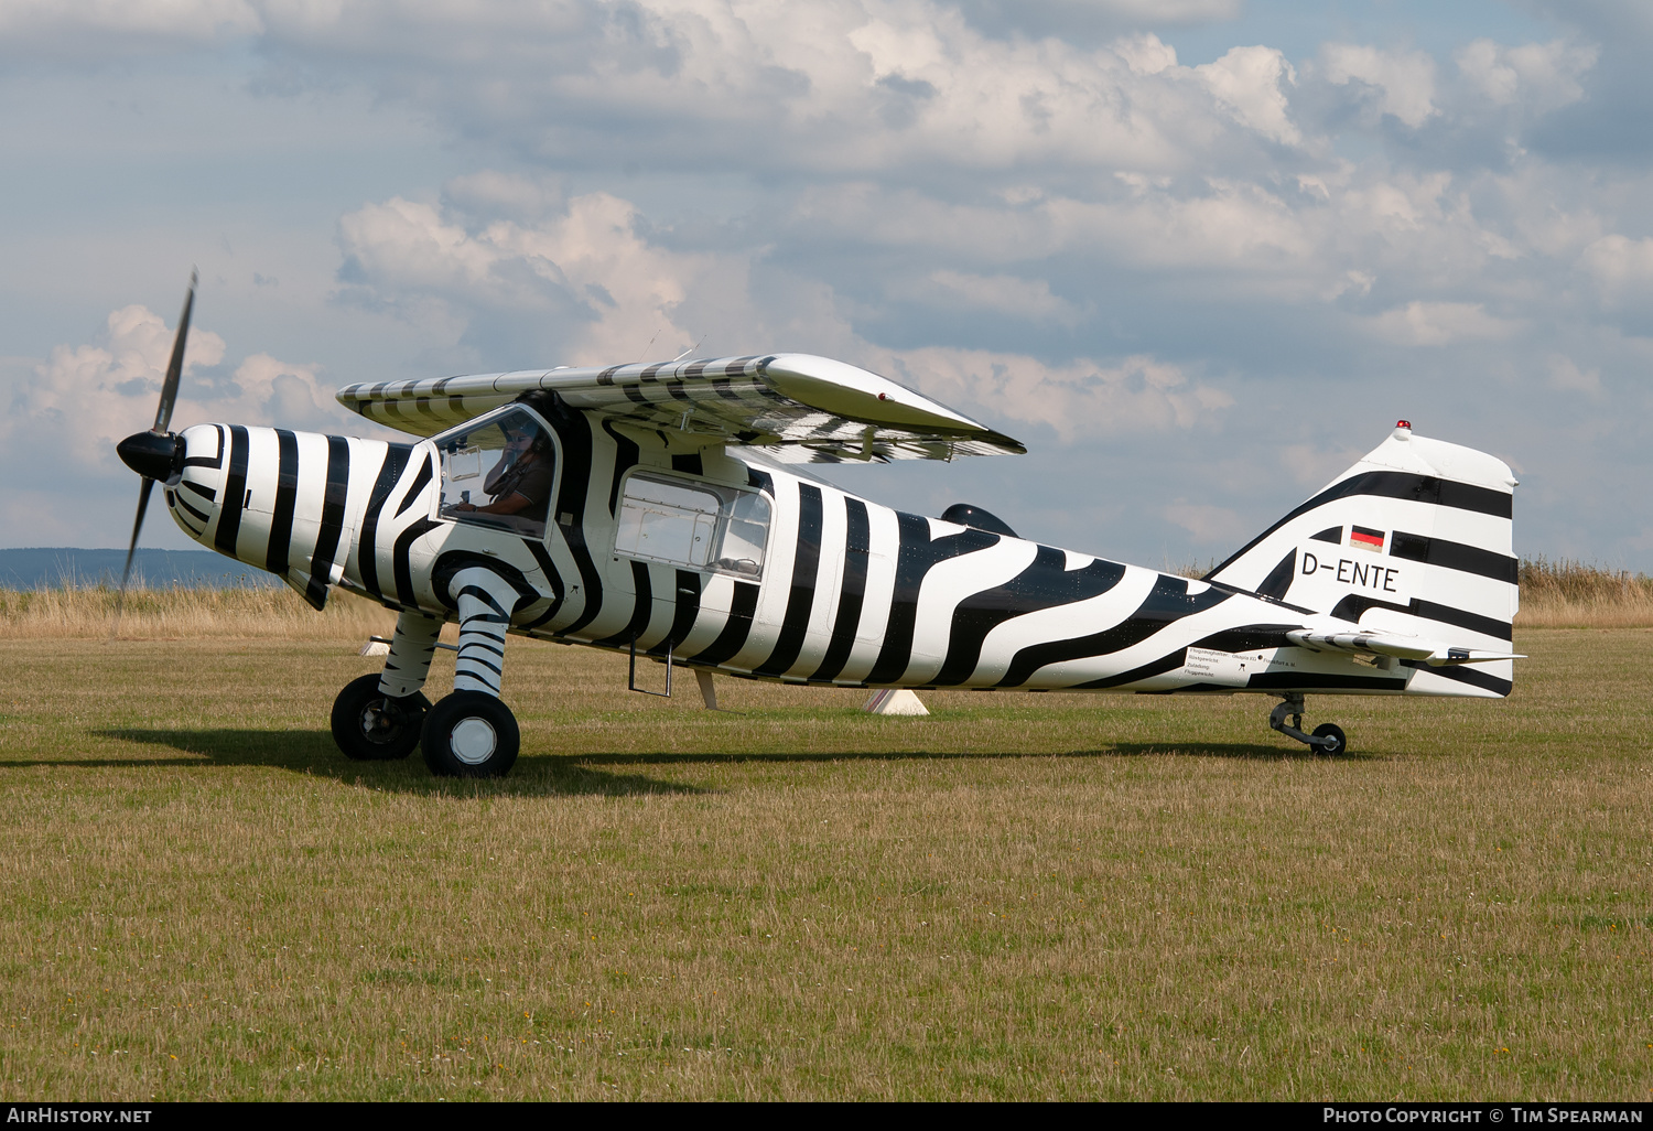
[(488, 413), (436, 437), (441, 451), (440, 514), (524, 537), (545, 536), (557, 481), (557, 446), (527, 410)]

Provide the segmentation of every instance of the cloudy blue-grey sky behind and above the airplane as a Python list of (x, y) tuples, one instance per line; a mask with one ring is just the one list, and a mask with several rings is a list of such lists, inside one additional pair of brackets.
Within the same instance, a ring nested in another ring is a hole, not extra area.
[[(1397, 418), (1653, 572), (1636, 0), (0, 0), (0, 546), (362, 380), (817, 352), (1025, 456), (833, 468), (1210, 564)], [(145, 546), (187, 547), (152, 513)]]

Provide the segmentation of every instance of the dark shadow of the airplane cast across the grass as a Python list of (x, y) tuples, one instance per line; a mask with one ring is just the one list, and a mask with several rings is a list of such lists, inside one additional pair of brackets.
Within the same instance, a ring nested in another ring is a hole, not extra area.
[[(721, 754), (714, 751), (691, 752), (603, 752), (529, 756), (516, 775), (488, 782), (463, 779), (433, 779), (423, 771), (418, 757), (397, 762), (352, 762), (339, 756), (332, 734), (327, 731), (253, 731), (253, 729), (142, 729), (114, 728), (96, 731), (99, 737), (112, 737), (144, 746), (162, 746), (190, 757), (94, 761), (13, 762), (13, 766), (84, 766), (84, 767), (136, 767), (136, 766), (271, 766), (294, 774), (329, 777), (339, 782), (369, 785), (403, 794), (451, 792), (455, 785), (474, 785), (489, 797), (562, 797), (608, 795), (630, 797), (638, 794), (703, 794), (704, 787), (668, 782), (641, 772), (618, 772), (645, 767), (729, 764), (729, 762), (903, 762), (903, 761), (1000, 761), (1000, 759), (1050, 759), (1050, 757), (1142, 757), (1175, 754), (1180, 757), (1227, 757), (1243, 761), (1314, 759), (1308, 751), (1260, 742), (1117, 742), (1089, 751), (1008, 752), (1008, 751), (822, 751), (822, 752), (744, 752)], [(1347, 754), (1342, 757), (1349, 757)], [(1370, 756), (1367, 756), (1370, 757)], [(605, 767), (605, 769), (595, 769)]]

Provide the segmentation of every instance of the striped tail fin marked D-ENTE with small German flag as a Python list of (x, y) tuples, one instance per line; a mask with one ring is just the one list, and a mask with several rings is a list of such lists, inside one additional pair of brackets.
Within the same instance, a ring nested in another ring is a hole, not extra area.
[[(1367, 628), (1508, 651), (1521, 600), (1514, 488), (1503, 460), (1415, 437), (1402, 422), (1205, 580)], [(1506, 663), (1476, 670), (1491, 676)], [(1508, 693), (1508, 678), (1498, 681)]]

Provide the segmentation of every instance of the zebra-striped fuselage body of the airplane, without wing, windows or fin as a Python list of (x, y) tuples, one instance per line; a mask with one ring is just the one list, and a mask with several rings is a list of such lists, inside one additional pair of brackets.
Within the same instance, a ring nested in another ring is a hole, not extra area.
[[(443, 519), (438, 448), (241, 425), (183, 432), (167, 504), (193, 539), (317, 608), (331, 585), (455, 620), (455, 579), (516, 594), (511, 632), (734, 675), (846, 686), (1481, 694), (1291, 647), (1317, 615), (1005, 534), (904, 514), (665, 432), (541, 405), (557, 440), (544, 537)], [(757, 577), (617, 551), (626, 476), (760, 493)], [(1222, 670), (1190, 660), (1233, 656)]]

